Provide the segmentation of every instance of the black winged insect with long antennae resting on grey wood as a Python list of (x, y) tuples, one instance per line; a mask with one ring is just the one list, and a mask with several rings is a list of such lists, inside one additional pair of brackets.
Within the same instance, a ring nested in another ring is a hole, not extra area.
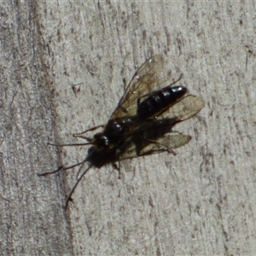
[[(163, 87), (166, 81), (161, 78), (162, 66), (162, 55), (154, 55), (145, 61), (131, 79), (107, 125), (98, 125), (73, 135), (85, 139), (87, 143), (49, 143), (57, 147), (92, 145), (81, 162), (73, 166), (61, 166), (54, 172), (38, 174), (45, 176), (75, 166), (80, 166), (81, 172), (84, 164), (89, 162), (67, 196), (67, 203), (72, 200), (74, 190), (92, 166), (100, 168), (107, 163), (161, 152), (175, 154), (173, 148), (189, 143), (189, 135), (174, 132), (172, 127), (200, 112), (205, 102), (201, 97), (188, 95), (186, 87), (173, 86), (182, 76)], [(102, 132), (96, 133), (94, 137), (85, 136), (87, 132), (101, 127)]]

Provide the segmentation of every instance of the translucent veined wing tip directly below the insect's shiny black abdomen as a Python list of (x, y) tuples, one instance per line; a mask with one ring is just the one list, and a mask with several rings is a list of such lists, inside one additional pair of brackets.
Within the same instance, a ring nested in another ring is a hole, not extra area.
[(173, 104), (160, 118), (173, 119), (173, 123), (181, 122), (193, 117), (205, 106), (205, 101), (197, 96), (185, 96), (177, 103)]

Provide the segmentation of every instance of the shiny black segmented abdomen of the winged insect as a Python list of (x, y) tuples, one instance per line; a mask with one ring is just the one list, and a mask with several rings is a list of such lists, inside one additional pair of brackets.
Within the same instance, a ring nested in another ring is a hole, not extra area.
[(162, 90), (154, 91), (143, 102), (137, 106), (137, 115), (141, 119), (154, 117), (155, 114), (160, 113), (169, 108), (173, 103), (182, 98), (187, 88), (183, 86), (166, 87)]

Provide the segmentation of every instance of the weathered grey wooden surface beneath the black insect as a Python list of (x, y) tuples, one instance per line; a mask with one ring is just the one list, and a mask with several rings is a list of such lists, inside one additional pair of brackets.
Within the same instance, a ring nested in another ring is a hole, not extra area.
[[(0, 18), (0, 255), (253, 255), (255, 3), (6, 1)], [(91, 169), (57, 148), (104, 124), (136, 71), (163, 54), (206, 107), (177, 155)], [(73, 92), (73, 84), (80, 84)]]

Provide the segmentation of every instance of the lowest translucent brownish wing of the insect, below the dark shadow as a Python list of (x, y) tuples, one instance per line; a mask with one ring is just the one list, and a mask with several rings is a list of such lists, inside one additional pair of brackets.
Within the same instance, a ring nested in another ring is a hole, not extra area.
[(156, 141), (142, 139), (130, 144), (125, 152), (120, 155), (120, 160), (136, 158), (148, 154), (159, 154), (162, 152), (173, 153), (173, 148), (179, 148), (189, 143), (191, 137), (183, 134), (167, 134)]

